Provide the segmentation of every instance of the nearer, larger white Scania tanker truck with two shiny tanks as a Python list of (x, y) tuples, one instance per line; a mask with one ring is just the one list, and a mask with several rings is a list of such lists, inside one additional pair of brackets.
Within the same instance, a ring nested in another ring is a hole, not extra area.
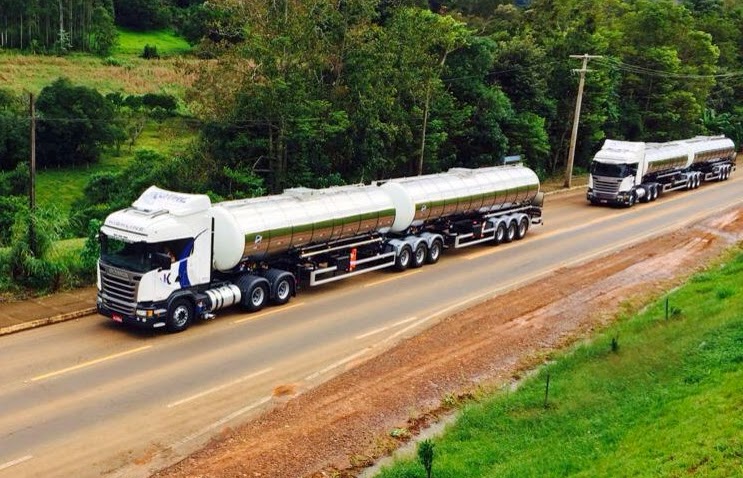
[(521, 165), (212, 205), (155, 186), (100, 230), (97, 308), (171, 332), (233, 304), (284, 304), (301, 286), (438, 261), (445, 248), (521, 239), (540, 224), (539, 180)]

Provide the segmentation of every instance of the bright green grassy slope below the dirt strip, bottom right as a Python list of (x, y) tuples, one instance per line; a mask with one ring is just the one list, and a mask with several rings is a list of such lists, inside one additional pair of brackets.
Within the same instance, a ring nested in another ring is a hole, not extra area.
[[(667, 320), (661, 299), (466, 406), (433, 476), (743, 476), (743, 250), (668, 298)], [(379, 476), (425, 474), (410, 459)]]

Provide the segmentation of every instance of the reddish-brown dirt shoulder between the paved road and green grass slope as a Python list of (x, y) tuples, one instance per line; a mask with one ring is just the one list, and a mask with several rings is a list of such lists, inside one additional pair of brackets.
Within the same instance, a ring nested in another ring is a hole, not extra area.
[[(451, 316), (287, 400), (157, 477), (356, 476), (446, 410), (451, 397), (517, 380), (555, 350), (633, 311), (743, 240), (743, 208)], [(301, 384), (288, 384), (283, 393)], [(281, 387), (280, 387), (281, 388)]]

